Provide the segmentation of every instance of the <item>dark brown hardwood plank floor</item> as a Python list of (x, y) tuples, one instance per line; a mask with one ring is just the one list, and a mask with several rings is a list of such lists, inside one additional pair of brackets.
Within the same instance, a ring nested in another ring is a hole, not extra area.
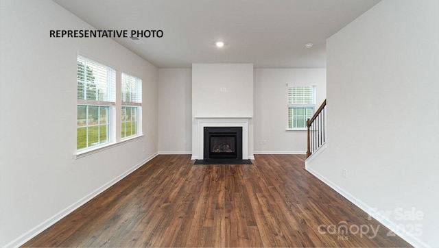
[(187, 155), (157, 156), (23, 247), (410, 247), (304, 160), (193, 165)]

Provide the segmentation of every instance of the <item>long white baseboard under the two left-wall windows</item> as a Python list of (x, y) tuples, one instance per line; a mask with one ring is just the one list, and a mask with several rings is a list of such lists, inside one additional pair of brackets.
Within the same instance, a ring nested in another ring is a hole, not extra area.
[(147, 163), (148, 161), (152, 160), (157, 155), (158, 155), (158, 153), (152, 154), (150, 157), (146, 158), (145, 160), (143, 160), (139, 164), (136, 164), (135, 166), (133, 166), (128, 171), (125, 171), (121, 175), (115, 177), (115, 179), (112, 179), (110, 182), (107, 182), (106, 184), (104, 184), (101, 187), (97, 188), (92, 193), (86, 195), (85, 197), (83, 197), (79, 201), (76, 201), (71, 206), (65, 208), (61, 212), (58, 212), (58, 214), (55, 214), (54, 216), (51, 216), (46, 221), (43, 221), (43, 223), (40, 223), (39, 225), (36, 225), (36, 227), (34, 227), (31, 230), (27, 231), (25, 234), (23, 234), (23, 235), (19, 236), (18, 238), (12, 240), (10, 243), (5, 245), (5, 247), (20, 247), (21, 245), (23, 245), (27, 241), (31, 240), (32, 238), (34, 238), (35, 236), (40, 234), (40, 232), (43, 232), (44, 230), (49, 228), (51, 225), (54, 225), (56, 222), (60, 221), (60, 219), (64, 218), (65, 216), (67, 216), (68, 214), (73, 212), (74, 210), (78, 209), (80, 206), (84, 205), (85, 203), (87, 203), (88, 201), (90, 201), (91, 199), (93, 199), (94, 197), (99, 195), (100, 193), (104, 192), (104, 190), (110, 188), (111, 186), (113, 186), (114, 184), (119, 182), (121, 179), (126, 177), (127, 175), (130, 175), (130, 173), (132, 173), (133, 171), (139, 169), (139, 167), (141, 167), (143, 164)]

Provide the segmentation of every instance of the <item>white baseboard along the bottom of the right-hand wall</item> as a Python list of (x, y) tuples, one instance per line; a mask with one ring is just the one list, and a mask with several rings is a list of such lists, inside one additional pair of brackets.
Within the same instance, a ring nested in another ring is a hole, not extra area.
[[(316, 154), (317, 155), (317, 154)], [(379, 223), (383, 224), (385, 227), (387, 227), (390, 231), (394, 232), (394, 234), (400, 236), (403, 238), (403, 240), (407, 241), (407, 243), (410, 243), (410, 245), (414, 247), (431, 247), (430, 245), (427, 245), (419, 238), (412, 236), (410, 233), (408, 233), (406, 230), (402, 230), (399, 225), (394, 223), (393, 221), (390, 221), (388, 219), (385, 219), (375, 208), (372, 208), (368, 206), (363, 201), (360, 201), (353, 195), (347, 193), (345, 190), (340, 188), (337, 184), (334, 184), (331, 182), (331, 180), (327, 179), (326, 177), (320, 175), (317, 171), (314, 171), (312, 168), (308, 166), (308, 163), (305, 162), (305, 169), (309, 171), (309, 173), (316, 176), (320, 181), (324, 182), (324, 184), (327, 184), (329, 187), (333, 188), (333, 190), (337, 191), (340, 195), (342, 195), (344, 198), (348, 199), (348, 201), (351, 201), (355, 206), (369, 214), (369, 216), (372, 216), (372, 218), (379, 221)]]

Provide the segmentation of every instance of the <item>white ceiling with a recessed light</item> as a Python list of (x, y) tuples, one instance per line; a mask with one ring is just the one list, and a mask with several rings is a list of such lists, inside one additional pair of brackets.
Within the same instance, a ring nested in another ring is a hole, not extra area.
[[(160, 68), (253, 63), (324, 68), (325, 42), (380, 0), (54, 0), (96, 29), (161, 29), (163, 38), (115, 38)], [(215, 40), (226, 46), (218, 49)], [(311, 49), (305, 43), (312, 42)]]

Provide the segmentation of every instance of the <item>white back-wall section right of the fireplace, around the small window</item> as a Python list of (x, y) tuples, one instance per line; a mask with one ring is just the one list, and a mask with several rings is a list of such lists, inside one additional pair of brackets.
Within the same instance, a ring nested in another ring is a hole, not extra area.
[(254, 153), (307, 151), (307, 132), (287, 131), (287, 84), (316, 86), (316, 109), (326, 99), (326, 69), (254, 69)]

